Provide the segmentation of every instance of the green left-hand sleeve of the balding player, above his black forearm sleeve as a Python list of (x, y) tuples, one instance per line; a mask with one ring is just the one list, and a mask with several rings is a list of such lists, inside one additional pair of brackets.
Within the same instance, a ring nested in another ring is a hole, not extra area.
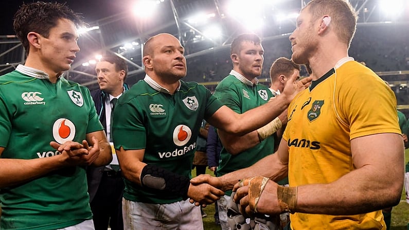
[(116, 103), (112, 124), (115, 149), (125, 150), (146, 148), (146, 128), (144, 112), (136, 98)]

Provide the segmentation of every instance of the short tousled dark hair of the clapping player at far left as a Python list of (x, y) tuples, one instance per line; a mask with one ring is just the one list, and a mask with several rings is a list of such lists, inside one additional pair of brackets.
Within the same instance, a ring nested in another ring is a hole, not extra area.
[(57, 25), (59, 19), (72, 21), (77, 27), (83, 25), (82, 17), (72, 9), (61, 3), (28, 3), (20, 6), (14, 14), (14, 32), (23, 43), (26, 55), (30, 46), (27, 34), (31, 31), (40, 33), (48, 38), (50, 29)]

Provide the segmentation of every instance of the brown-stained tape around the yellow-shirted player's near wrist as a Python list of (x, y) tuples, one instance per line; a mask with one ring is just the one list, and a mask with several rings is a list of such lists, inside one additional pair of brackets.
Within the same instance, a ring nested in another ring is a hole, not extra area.
[(282, 213), (295, 213), (297, 208), (297, 187), (278, 186), (277, 197)]

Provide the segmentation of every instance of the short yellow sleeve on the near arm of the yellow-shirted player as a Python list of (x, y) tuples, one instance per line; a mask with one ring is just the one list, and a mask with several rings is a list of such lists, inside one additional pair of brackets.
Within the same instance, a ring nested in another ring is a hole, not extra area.
[(401, 133), (396, 97), (378, 76), (370, 73), (348, 76), (337, 94), (340, 116), (349, 126), (350, 139)]

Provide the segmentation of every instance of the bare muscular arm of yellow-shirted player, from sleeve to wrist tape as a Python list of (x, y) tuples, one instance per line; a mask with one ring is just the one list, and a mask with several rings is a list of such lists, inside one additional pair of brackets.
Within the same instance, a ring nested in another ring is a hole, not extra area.
[(298, 186), (297, 210), (301, 213), (353, 215), (399, 203), (404, 177), (402, 137), (394, 133), (351, 140), (357, 168), (329, 184)]

